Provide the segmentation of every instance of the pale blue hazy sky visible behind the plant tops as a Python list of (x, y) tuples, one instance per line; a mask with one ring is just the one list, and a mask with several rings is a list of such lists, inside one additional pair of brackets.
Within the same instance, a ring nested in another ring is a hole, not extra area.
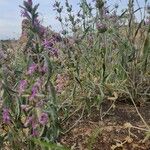
[[(73, 5), (74, 10), (79, 7), (77, 4), (80, 0), (69, 0)], [(88, 2), (92, 0), (87, 0)], [(128, 0), (107, 0), (108, 5), (120, 6), (120, 10), (127, 6)], [(136, 1), (136, 0), (135, 0)], [(143, 6), (145, 0), (138, 0), (139, 5)], [(33, 0), (34, 4), (39, 3), (40, 18), (43, 20), (43, 25), (51, 26), (55, 31), (60, 30), (59, 22), (56, 20), (56, 12), (53, 10), (55, 0)], [(61, 0), (64, 4), (65, 0)], [(150, 2), (150, 0), (148, 0)], [(0, 0), (0, 39), (19, 38), (21, 35), (21, 21), (20, 8), (23, 0)]]

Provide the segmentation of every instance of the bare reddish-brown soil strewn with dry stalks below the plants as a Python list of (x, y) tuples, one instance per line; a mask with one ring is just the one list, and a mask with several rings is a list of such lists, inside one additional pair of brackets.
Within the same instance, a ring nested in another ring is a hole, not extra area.
[[(110, 104), (105, 103), (101, 111), (104, 113), (109, 107)], [(149, 103), (138, 107), (147, 124), (150, 124), (149, 108)], [(65, 129), (73, 125), (79, 114), (64, 124)], [(144, 141), (146, 131), (135, 128), (129, 130), (127, 124), (146, 129), (132, 105), (115, 105), (103, 120), (100, 110), (92, 108), (91, 114), (83, 116), (69, 133), (61, 137), (60, 142), (74, 150), (150, 150), (150, 141)]]

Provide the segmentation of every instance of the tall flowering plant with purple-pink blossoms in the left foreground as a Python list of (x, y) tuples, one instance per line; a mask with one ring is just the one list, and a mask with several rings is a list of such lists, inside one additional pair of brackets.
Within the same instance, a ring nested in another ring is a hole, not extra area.
[[(58, 57), (58, 50), (55, 48), (58, 36), (45, 38), (46, 28), (39, 21), (38, 6), (32, 0), (24, 1), (23, 6), (20, 6), (21, 16), (29, 22), (29, 40), (24, 49), (25, 59), (23, 58), (26, 65), (22, 66), (19, 76), (13, 80), (12, 85), (16, 85), (11, 86), (12, 89), (4, 88), (8, 78), (2, 87), (1, 120), (9, 128), (3, 135), (4, 141), (8, 140), (9, 135), (18, 134), (17, 137), (21, 137), (18, 142), (22, 145), (27, 142), (29, 149), (32, 149), (32, 138), (54, 142), (60, 132), (57, 98), (52, 80), (53, 58)], [(14, 138), (9, 144), (18, 149), (19, 145), (15, 140)]]

